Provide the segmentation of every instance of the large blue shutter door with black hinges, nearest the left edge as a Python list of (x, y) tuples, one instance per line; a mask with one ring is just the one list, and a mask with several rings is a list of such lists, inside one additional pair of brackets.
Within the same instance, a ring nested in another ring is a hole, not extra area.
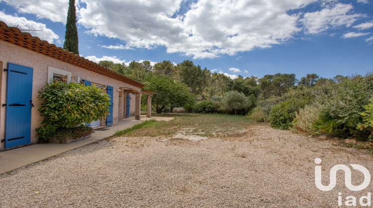
[(8, 63), (5, 113), (5, 148), (31, 142), (33, 69)]

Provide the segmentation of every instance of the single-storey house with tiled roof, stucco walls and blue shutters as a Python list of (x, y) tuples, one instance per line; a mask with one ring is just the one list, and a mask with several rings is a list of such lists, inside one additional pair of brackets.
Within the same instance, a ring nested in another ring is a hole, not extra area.
[(93, 128), (118, 125), (129, 116), (140, 120), (140, 98), (144, 94), (148, 96), (147, 116), (151, 116), (154, 93), (142, 91), (144, 84), (1, 21), (0, 49), (0, 151), (38, 142), (35, 129), (43, 120), (37, 110), (42, 103), (38, 91), (52, 78), (83, 81), (107, 92), (110, 115), (89, 124)]

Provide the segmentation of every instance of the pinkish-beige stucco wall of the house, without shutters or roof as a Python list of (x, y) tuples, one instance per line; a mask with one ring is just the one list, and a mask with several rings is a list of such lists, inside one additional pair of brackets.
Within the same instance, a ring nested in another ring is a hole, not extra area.
[[(129, 88), (134, 89), (138, 92), (141, 91), (140, 88), (129, 85), (127, 83), (121, 82), (110, 77), (103, 76), (101, 74), (95, 73), (93, 71), (75, 66), (73, 64), (64, 62), (62, 60), (43, 55), (38, 52), (33, 52), (25, 48), (10, 44), (4, 41), (0, 41), (0, 61), (2, 61), (2, 68), (7, 67), (7, 63), (15, 63), (27, 67), (33, 68), (33, 86), (32, 86), (32, 100), (35, 107), (32, 108), (31, 112), (31, 144), (37, 143), (36, 131), (35, 128), (41, 126), (42, 117), (40, 116), (39, 111), (37, 110), (41, 101), (37, 99), (38, 91), (44, 86), (48, 81), (48, 66), (52, 66), (58, 69), (63, 69), (66, 71), (72, 72), (72, 76), (79, 76), (81, 79), (89, 80), (93, 83), (98, 83), (104, 86), (113, 87), (113, 125), (118, 125), (118, 120), (123, 117), (123, 91), (118, 92), (117, 89), (120, 88)], [(0, 64), (1, 65), (1, 64)], [(2, 69), (1, 68), (1, 69)], [(6, 98), (6, 73), (1, 70), (1, 104), (5, 104)], [(121, 97), (119, 99), (119, 94)], [(131, 99), (131, 115), (135, 113), (135, 99)], [(118, 115), (119, 113), (119, 115)], [(0, 111), (0, 137), (1, 140), (4, 139), (4, 129), (5, 129), (5, 107), (1, 107)], [(4, 149), (4, 143), (0, 143), (0, 151)]]

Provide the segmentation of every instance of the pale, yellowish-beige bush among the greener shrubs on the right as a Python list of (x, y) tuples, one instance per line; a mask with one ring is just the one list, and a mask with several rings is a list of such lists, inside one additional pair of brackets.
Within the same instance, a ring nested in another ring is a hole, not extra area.
[(312, 125), (319, 118), (320, 110), (314, 105), (306, 105), (295, 112), (295, 118), (292, 126), (300, 132), (313, 133), (315, 131)]

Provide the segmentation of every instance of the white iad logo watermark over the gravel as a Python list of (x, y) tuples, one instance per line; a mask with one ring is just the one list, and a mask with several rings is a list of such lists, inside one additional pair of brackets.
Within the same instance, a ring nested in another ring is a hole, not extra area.
[[(315, 163), (320, 164), (321, 159), (316, 158)], [(350, 165), (355, 170), (359, 170), (360, 172), (362, 172), (364, 174), (364, 181), (363, 181), (362, 184), (360, 184), (358, 186), (352, 185), (352, 183), (351, 183), (351, 169), (347, 165), (337, 164), (337, 165), (334, 165), (332, 167), (332, 169), (330, 169), (329, 185), (324, 186), (321, 183), (321, 166), (316, 165), (315, 166), (315, 185), (316, 185), (316, 187), (318, 189), (320, 189), (321, 191), (330, 191), (330, 190), (334, 189), (334, 187), (337, 183), (337, 171), (338, 170), (343, 170), (345, 172), (345, 185), (348, 189), (350, 189), (351, 191), (361, 191), (361, 190), (364, 190), (365, 188), (367, 188), (369, 186), (369, 183), (371, 182), (371, 173), (369, 172), (369, 170), (367, 168), (365, 168), (364, 166), (359, 165), (359, 164), (350, 164)], [(339, 195), (338, 206), (342, 206), (342, 197), (341, 197), (342, 193), (338, 193), (338, 195)], [(360, 203), (361, 206), (371, 206), (371, 193), (368, 192), (367, 196), (362, 196), (359, 200), (359, 203)], [(345, 205), (346, 206), (356, 206), (356, 197), (354, 197), (354, 196), (346, 197)]]

